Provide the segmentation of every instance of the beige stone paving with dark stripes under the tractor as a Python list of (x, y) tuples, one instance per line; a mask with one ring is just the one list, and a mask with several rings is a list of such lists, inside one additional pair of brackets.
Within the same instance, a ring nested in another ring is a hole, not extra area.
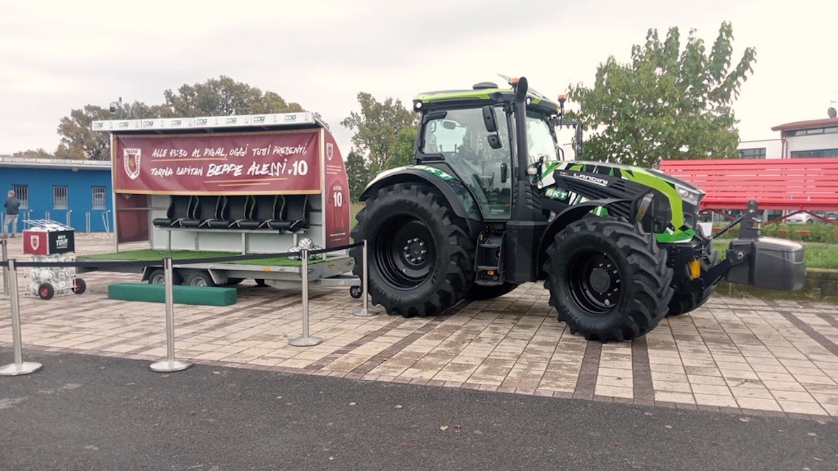
[[(122, 247), (121, 247), (122, 248)], [(126, 247), (128, 248), (128, 247)], [(103, 235), (76, 235), (77, 253), (111, 251)], [(10, 240), (10, 258), (20, 240)], [(21, 270), (18, 284), (28, 286)], [(107, 284), (137, 275), (85, 273), (82, 295), (21, 297), (28, 349), (157, 361), (166, 356), (165, 306), (109, 300)], [(23, 288), (22, 288), (23, 289)], [(536, 396), (729, 411), (838, 417), (838, 309), (833, 304), (714, 296), (666, 318), (644, 338), (587, 342), (556, 321), (541, 283), (437, 318), (359, 317), (346, 288), (309, 293), (313, 347), (297, 290), (241, 284), (227, 307), (175, 305), (176, 357), (306, 375), (479, 389)], [(12, 344), (0, 300), (0, 346)], [(0, 364), (12, 362), (0, 357)], [(44, 365), (45, 367), (50, 365)], [(35, 373), (37, 375), (37, 373)]]

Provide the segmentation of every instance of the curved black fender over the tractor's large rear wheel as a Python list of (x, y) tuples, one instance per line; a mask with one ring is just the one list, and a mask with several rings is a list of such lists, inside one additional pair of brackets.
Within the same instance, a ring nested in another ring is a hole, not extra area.
[(472, 195), (468, 193), (465, 185), (452, 174), (436, 167), (427, 165), (408, 165), (406, 167), (392, 168), (375, 176), (364, 193), (360, 195), (359, 201), (365, 201), (379, 189), (393, 184), (406, 182), (427, 183), (438, 189), (451, 205), (455, 215), (465, 219), (481, 222), (480, 211)]

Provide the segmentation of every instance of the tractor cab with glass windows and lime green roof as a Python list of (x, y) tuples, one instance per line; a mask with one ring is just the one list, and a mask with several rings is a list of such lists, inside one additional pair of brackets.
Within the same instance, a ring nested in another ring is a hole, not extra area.
[[(468, 188), (484, 220), (512, 216), (516, 146), (515, 91), (489, 82), (471, 91), (438, 91), (416, 96), (413, 106), (422, 113), (414, 163), (451, 172)], [(561, 106), (537, 92), (527, 96), (524, 167), (559, 160), (555, 127)]]

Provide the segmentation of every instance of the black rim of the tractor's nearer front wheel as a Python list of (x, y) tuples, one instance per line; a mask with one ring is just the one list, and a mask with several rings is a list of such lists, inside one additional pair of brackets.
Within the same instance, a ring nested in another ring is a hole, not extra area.
[(603, 315), (617, 306), (622, 280), (617, 263), (610, 256), (601, 251), (577, 252), (567, 267), (567, 287), (579, 308)]

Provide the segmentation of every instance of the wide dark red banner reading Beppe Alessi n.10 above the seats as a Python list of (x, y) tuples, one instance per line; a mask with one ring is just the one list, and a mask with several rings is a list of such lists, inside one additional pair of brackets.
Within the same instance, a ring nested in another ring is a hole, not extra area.
[(318, 194), (318, 131), (118, 136), (114, 192)]

